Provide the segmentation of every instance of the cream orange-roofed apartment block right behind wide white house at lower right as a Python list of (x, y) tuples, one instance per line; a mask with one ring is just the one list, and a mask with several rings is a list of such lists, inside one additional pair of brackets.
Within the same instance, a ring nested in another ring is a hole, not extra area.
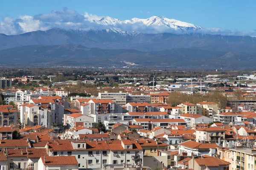
[(203, 127), (196, 129), (196, 142), (222, 144), (225, 140), (225, 129), (222, 127)]

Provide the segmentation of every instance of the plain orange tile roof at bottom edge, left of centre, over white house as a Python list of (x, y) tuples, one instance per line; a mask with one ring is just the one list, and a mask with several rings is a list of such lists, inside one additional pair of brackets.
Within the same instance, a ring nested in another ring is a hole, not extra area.
[(78, 165), (76, 156), (42, 156), (44, 165)]

